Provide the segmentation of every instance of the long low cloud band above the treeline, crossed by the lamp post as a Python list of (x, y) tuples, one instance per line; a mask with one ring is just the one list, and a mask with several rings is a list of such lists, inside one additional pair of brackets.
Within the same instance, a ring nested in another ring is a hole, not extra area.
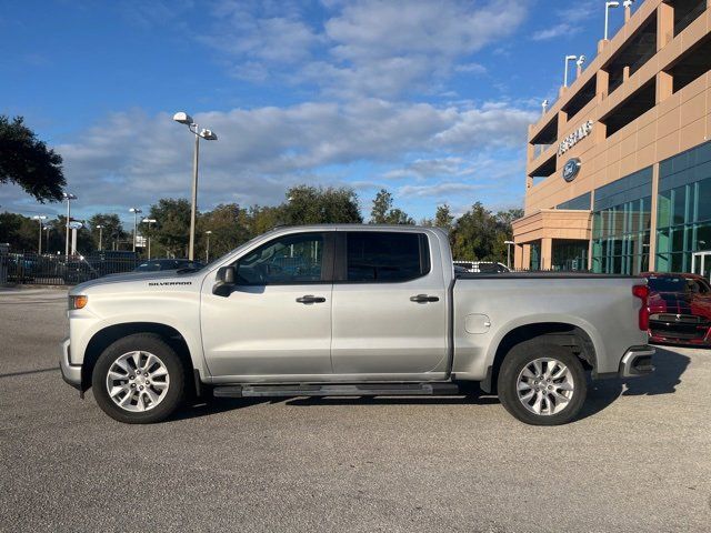
[[(504, 104), (460, 109), (374, 99), (200, 113), (198, 123), (219, 140), (202, 142), (199, 203), (277, 203), (289, 185), (303, 182), (365, 188), (388, 169), (390, 178), (418, 180), (401, 190), (404, 195), (471, 191), (474, 169), (490, 164), (482, 154), (521, 151), (531, 118)], [(114, 113), (79, 141), (56, 148), (79, 209), (124, 212), (163, 197), (184, 198), (190, 190), (192, 137), (167, 113)], [(361, 162), (385, 171), (363, 179), (349, 170)], [(453, 179), (461, 182), (454, 187)], [(8, 189), (1, 197), (3, 207), (22, 198)]]

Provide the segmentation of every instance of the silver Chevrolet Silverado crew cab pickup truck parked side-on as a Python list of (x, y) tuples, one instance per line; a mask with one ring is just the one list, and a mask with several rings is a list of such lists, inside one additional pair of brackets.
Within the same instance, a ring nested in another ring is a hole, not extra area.
[(653, 371), (647, 295), (628, 276), (455, 276), (434, 228), (280, 228), (197, 271), (77, 285), (60, 366), (128, 423), (196, 395), (479, 389), (522, 422), (555, 425), (580, 411), (588, 372)]

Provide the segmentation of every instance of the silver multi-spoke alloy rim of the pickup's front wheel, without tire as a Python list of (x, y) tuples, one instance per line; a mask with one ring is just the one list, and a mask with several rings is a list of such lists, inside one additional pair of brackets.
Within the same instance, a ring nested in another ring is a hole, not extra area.
[(120, 355), (107, 374), (109, 398), (130, 412), (150, 411), (166, 398), (170, 375), (166, 364), (150, 352)]

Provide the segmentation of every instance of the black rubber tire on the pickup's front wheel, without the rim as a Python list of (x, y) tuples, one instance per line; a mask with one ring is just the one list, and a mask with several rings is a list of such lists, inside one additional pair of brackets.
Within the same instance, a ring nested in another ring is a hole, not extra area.
[[(119, 406), (111, 399), (107, 376), (114, 361), (121, 355), (134, 351), (149, 352), (159, 358), (168, 371), (170, 384), (164, 396), (156, 406), (146, 411), (132, 412)], [(112, 419), (127, 424), (150, 424), (166, 420), (182, 403), (186, 391), (186, 370), (180, 356), (160, 335), (137, 333), (119, 339), (99, 355), (91, 375), (91, 386), (97, 403)]]

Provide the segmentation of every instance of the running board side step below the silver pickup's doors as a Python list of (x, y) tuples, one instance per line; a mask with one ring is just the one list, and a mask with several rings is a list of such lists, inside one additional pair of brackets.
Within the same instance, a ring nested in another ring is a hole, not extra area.
[(288, 385), (226, 385), (212, 390), (216, 398), (253, 396), (433, 396), (460, 394), (454, 383), (361, 383), (352, 384), (288, 384)]

